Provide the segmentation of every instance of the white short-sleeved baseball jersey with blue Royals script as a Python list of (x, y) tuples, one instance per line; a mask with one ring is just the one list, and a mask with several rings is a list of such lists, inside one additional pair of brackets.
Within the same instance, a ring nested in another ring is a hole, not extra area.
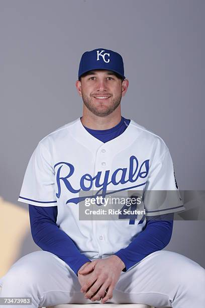
[(80, 193), (107, 191), (176, 191), (173, 204), (145, 202), (146, 215), (182, 211), (173, 163), (165, 142), (131, 120), (106, 143), (93, 137), (80, 118), (44, 137), (29, 161), (18, 201), (58, 206), (57, 225), (88, 258), (111, 255), (127, 247), (146, 224), (129, 220), (79, 220)]

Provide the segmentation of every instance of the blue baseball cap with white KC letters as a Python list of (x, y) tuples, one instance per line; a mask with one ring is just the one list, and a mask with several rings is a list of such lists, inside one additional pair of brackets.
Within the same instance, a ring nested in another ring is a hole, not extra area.
[(98, 48), (90, 51), (85, 51), (80, 59), (78, 69), (78, 80), (80, 76), (89, 70), (107, 69), (118, 73), (123, 79), (124, 64), (122, 56), (113, 50)]

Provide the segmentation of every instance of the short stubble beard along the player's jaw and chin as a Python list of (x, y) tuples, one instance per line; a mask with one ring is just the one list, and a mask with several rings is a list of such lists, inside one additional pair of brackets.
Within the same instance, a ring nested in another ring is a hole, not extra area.
[(114, 112), (114, 110), (116, 110), (116, 108), (120, 105), (122, 94), (115, 99), (110, 98), (110, 100), (112, 100), (112, 104), (110, 104), (108, 108), (103, 110), (97, 108), (96, 104), (92, 103), (92, 99), (92, 97), (85, 96), (82, 92), (82, 100), (87, 109), (96, 116), (105, 117)]

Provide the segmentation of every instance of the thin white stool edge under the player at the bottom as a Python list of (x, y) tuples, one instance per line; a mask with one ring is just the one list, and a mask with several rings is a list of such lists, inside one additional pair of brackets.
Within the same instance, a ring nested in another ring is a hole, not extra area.
[(61, 304), (61, 305), (50, 306), (47, 308), (100, 308), (100, 305), (104, 308), (154, 308), (145, 304), (116, 304), (116, 303)]

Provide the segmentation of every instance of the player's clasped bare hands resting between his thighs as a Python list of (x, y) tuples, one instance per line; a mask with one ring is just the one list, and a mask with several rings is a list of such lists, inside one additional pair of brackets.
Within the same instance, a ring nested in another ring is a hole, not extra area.
[(116, 255), (85, 263), (78, 271), (80, 291), (91, 301), (105, 303), (113, 297), (113, 290), (125, 268), (124, 262)]

